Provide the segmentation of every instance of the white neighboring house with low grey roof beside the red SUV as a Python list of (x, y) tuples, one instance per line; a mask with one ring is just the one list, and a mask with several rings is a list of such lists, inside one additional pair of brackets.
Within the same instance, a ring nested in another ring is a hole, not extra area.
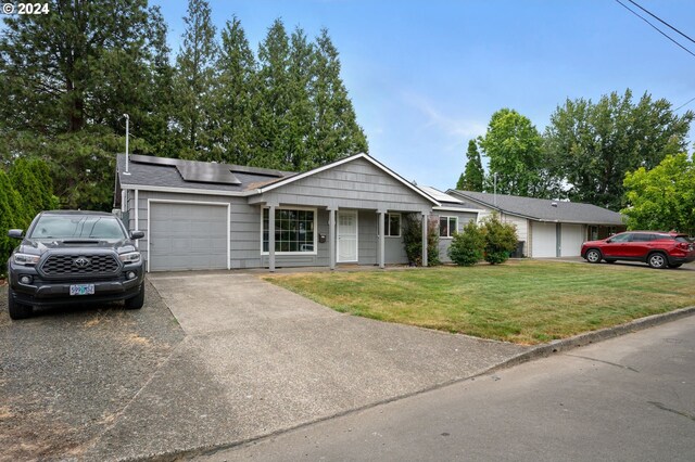
[(591, 204), (448, 190), (446, 193), (482, 207), (479, 219), (497, 211), (517, 226), (527, 257), (574, 257), (582, 243), (626, 229), (622, 216)]

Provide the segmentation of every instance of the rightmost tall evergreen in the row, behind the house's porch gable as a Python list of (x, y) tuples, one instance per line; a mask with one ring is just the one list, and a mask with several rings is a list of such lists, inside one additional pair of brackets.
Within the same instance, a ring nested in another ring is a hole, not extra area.
[(311, 157), (303, 169), (327, 164), (361, 152), (368, 152), (367, 138), (340, 77), (340, 59), (327, 29), (316, 39), (315, 80), (312, 101), (314, 130), (309, 133)]

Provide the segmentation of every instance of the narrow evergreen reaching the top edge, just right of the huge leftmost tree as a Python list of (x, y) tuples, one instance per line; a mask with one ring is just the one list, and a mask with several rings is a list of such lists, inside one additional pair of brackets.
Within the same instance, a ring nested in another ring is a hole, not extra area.
[(186, 158), (207, 158), (212, 128), (212, 89), (217, 56), (216, 29), (212, 23), (210, 4), (205, 0), (189, 0), (186, 30), (176, 57), (175, 94), (177, 120)]

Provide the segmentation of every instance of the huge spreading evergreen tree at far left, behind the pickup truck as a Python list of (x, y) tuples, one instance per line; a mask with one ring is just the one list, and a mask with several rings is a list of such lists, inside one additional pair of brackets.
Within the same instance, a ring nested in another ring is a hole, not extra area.
[[(159, 87), (150, 82), (166, 27), (146, 0), (49, 3), (47, 15), (3, 17), (0, 154), (45, 158), (55, 190), (70, 194), (61, 196), (65, 206), (110, 208), (123, 114), (137, 139), (157, 112)], [(106, 157), (96, 147), (104, 140)], [(132, 145), (148, 150), (135, 139)]]

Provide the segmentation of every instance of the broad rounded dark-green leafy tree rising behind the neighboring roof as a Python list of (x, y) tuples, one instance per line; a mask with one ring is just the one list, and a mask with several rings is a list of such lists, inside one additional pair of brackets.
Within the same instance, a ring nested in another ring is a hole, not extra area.
[(694, 116), (690, 111), (679, 116), (668, 101), (648, 93), (635, 104), (630, 90), (597, 103), (567, 100), (545, 130), (548, 164), (570, 200), (618, 210), (626, 174), (649, 170), (667, 155), (683, 152)]

